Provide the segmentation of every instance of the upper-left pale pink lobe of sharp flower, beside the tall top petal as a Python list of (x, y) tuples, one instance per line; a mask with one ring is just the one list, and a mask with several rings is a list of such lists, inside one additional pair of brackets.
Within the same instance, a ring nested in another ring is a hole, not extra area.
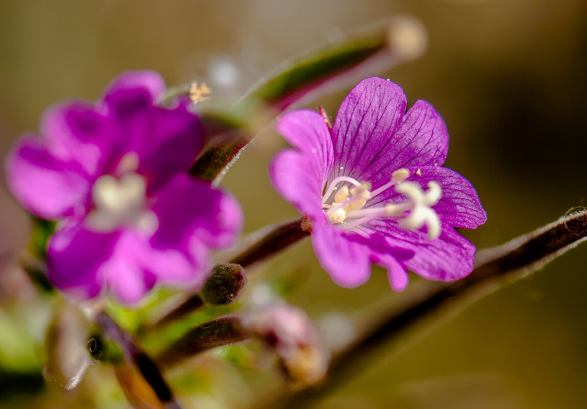
[(279, 119), (275, 128), (318, 170), (323, 186), (332, 173), (333, 151), (330, 131), (321, 114), (309, 109), (289, 112)]

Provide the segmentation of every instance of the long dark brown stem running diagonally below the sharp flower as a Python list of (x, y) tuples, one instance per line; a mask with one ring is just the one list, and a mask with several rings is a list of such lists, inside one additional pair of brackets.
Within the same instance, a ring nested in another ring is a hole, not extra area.
[[(372, 357), (381, 346), (438, 307), (450, 304), (454, 299), (468, 293), (468, 290), (480, 288), (491, 280), (521, 278), (583, 241), (587, 241), (587, 211), (561, 218), (497, 248), (479, 252), (475, 269), (469, 276), (452, 283), (427, 283), (419, 295), (409, 300), (403, 309), (390, 311), (389, 315), (381, 317), (375, 325), (366, 329), (335, 356), (329, 374), (320, 388), (285, 394), (281, 399), (272, 399), (266, 407), (308, 407), (316, 397), (328, 394), (353, 374), (360, 373), (360, 367), (365, 364), (366, 358)], [(483, 293), (485, 294), (487, 292)]]

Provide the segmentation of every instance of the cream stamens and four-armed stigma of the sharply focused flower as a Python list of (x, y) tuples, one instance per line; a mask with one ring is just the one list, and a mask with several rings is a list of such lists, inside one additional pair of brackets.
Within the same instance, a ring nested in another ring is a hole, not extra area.
[[(406, 230), (416, 231), (426, 225), (428, 238), (436, 239), (440, 236), (440, 219), (431, 207), (440, 200), (440, 185), (429, 182), (428, 190), (424, 192), (419, 184), (406, 182), (409, 175), (407, 169), (397, 170), (387, 184), (374, 191), (371, 191), (369, 182), (339, 176), (326, 189), (322, 197), (322, 210), (330, 223), (345, 230), (363, 225), (375, 218), (394, 217), (399, 219), (399, 227)], [(340, 186), (340, 183), (343, 185)], [(407, 200), (384, 207), (363, 208), (367, 200), (390, 188), (405, 195)]]

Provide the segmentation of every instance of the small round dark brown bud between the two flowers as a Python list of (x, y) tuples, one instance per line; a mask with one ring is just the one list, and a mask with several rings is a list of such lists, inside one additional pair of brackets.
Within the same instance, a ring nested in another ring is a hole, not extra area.
[(247, 286), (247, 272), (239, 264), (222, 263), (212, 269), (201, 296), (210, 305), (235, 302)]

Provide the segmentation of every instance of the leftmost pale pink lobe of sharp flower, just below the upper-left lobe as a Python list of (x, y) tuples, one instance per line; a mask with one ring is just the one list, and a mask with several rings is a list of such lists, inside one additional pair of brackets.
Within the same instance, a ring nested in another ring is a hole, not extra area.
[(293, 149), (277, 153), (269, 164), (275, 190), (303, 215), (325, 220), (322, 212), (322, 178), (311, 158)]

